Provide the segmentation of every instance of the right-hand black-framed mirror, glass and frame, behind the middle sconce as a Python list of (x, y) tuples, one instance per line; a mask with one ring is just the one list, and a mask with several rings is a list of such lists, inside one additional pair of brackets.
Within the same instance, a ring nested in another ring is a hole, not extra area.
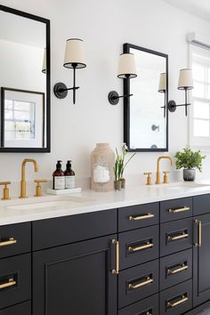
[[(168, 55), (134, 44), (137, 77), (124, 79), (124, 141), (129, 151), (168, 150)], [(164, 85), (164, 86), (163, 86)]]

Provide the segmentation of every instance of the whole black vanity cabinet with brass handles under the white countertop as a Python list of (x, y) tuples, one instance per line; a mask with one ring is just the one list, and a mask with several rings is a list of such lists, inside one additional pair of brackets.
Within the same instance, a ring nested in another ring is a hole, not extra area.
[(202, 313), (208, 205), (210, 194), (0, 226), (0, 315)]

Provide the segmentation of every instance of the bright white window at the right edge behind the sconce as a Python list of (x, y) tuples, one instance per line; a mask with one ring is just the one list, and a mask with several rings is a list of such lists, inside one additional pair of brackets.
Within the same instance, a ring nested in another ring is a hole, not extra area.
[(190, 145), (210, 146), (210, 51), (190, 47), (194, 89), (190, 107)]

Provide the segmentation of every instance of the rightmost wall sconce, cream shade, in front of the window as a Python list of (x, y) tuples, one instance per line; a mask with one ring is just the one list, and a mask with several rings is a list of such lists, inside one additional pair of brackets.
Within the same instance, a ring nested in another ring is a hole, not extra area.
[(184, 90), (185, 92), (185, 103), (177, 105), (175, 101), (168, 102), (168, 109), (171, 112), (174, 112), (177, 107), (185, 106), (185, 115), (188, 115), (188, 106), (190, 103), (188, 102), (188, 91), (193, 89), (193, 80), (192, 80), (192, 70), (191, 69), (181, 69), (178, 90)]

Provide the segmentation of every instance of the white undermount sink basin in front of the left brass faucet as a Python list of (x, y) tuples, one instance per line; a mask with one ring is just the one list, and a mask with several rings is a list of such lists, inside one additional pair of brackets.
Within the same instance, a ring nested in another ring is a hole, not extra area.
[(13, 204), (11, 206), (6, 206), (9, 210), (38, 210), (38, 209), (46, 209), (46, 208), (70, 208), (72, 206), (77, 206), (78, 203), (87, 203), (91, 201), (88, 198), (81, 197), (52, 197), (48, 198), (48, 200), (40, 200), (40, 199), (24, 199), (22, 202)]

